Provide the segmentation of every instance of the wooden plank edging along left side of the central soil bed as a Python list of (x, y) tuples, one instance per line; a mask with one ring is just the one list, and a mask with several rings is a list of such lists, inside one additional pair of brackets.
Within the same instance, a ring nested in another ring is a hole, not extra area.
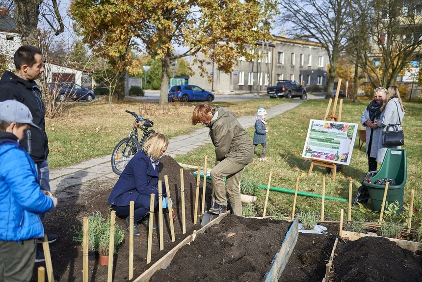
[(168, 252), (163, 257), (161, 257), (150, 268), (148, 268), (147, 270), (145, 270), (138, 278), (136, 278), (135, 280), (133, 280), (133, 282), (149, 281), (150, 278), (154, 275), (154, 273), (157, 270), (167, 268), (170, 265), (170, 262), (172, 261), (173, 257), (175, 256), (175, 254), (177, 253), (177, 251), (180, 248), (182, 248), (186, 244), (188, 244), (188, 243), (192, 242), (193, 240), (195, 240), (195, 237), (196, 237), (197, 234), (204, 233), (205, 230), (208, 227), (210, 227), (210, 226), (212, 226), (214, 224), (219, 223), (229, 213), (230, 213), (230, 211), (225, 212), (222, 216), (219, 216), (219, 217), (213, 219), (211, 222), (209, 222), (208, 224), (206, 224), (204, 227), (202, 227), (198, 231), (196, 231), (196, 232), (194, 231), (194, 233), (192, 235), (187, 236), (185, 238), (185, 240), (183, 240), (182, 242), (180, 242), (176, 247), (174, 247), (172, 250), (170, 250), (170, 252)]

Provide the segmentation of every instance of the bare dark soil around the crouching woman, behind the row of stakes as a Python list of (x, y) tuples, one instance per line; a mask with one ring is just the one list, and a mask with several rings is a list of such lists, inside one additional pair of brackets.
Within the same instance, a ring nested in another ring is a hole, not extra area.
[[(168, 212), (164, 213), (163, 236), (164, 236), (164, 250), (159, 251), (158, 233), (153, 233), (153, 246), (151, 263), (146, 264), (147, 256), (147, 230), (140, 225), (140, 237), (134, 238), (134, 273), (136, 278), (148, 269), (155, 261), (161, 258), (169, 250), (175, 247), (186, 236), (192, 234), (193, 230), (200, 229), (200, 219), (198, 218), (197, 225), (193, 225), (193, 210), (195, 205), (196, 193), (196, 177), (184, 171), (184, 185), (185, 185), (185, 218), (186, 218), (186, 233), (182, 233), (182, 204), (181, 204), (181, 190), (180, 190), (180, 165), (169, 156), (164, 156), (159, 164), (159, 177), (164, 181), (164, 175), (168, 175), (168, 182), (173, 199), (173, 209), (176, 211), (178, 219), (174, 222), (174, 231), (176, 241), (171, 242), (169, 216)], [(73, 242), (72, 238), (75, 235), (70, 231), (72, 226), (81, 226), (84, 216), (92, 214), (95, 211), (100, 211), (103, 218), (106, 218), (109, 212), (109, 205), (107, 198), (110, 195), (111, 189), (116, 183), (118, 176), (106, 178), (102, 181), (92, 181), (88, 184), (77, 185), (75, 187), (66, 189), (65, 191), (57, 193), (59, 203), (56, 209), (47, 213), (44, 219), (44, 229), (48, 233), (58, 235), (56, 242), (50, 244), (50, 252), (53, 263), (54, 279), (56, 281), (82, 281), (82, 250), (80, 244)], [(202, 199), (202, 179), (200, 182), (200, 197), (199, 203)], [(211, 191), (211, 187), (207, 185), (207, 191)], [(211, 201), (211, 193), (207, 197), (208, 202)], [(207, 195), (208, 196), (208, 195)], [(207, 205), (206, 205), (207, 207)], [(201, 205), (199, 204), (199, 213)], [(157, 213), (158, 215), (158, 213)], [(158, 216), (155, 216), (155, 221), (158, 226)], [(125, 220), (116, 217), (116, 224), (122, 229), (126, 228)], [(125, 232), (125, 241), (120, 246), (118, 254), (114, 256), (113, 266), (113, 281), (128, 281), (129, 279), (129, 232)], [(41, 246), (41, 244), (39, 244)], [(42, 249), (39, 249), (42, 250)], [(36, 268), (45, 266), (45, 263), (35, 263), (34, 274), (32, 281), (36, 281)], [(107, 281), (107, 267), (100, 266), (98, 259), (89, 261), (89, 281)]]

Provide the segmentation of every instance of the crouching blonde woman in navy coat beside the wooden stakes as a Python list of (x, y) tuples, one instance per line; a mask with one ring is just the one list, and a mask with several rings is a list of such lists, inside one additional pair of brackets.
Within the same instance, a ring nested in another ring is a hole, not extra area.
[[(129, 228), (129, 204), (134, 201), (133, 234), (140, 236), (137, 225), (149, 226), (151, 194), (155, 194), (155, 207), (158, 204), (158, 163), (168, 146), (168, 139), (161, 133), (151, 135), (129, 161), (108, 197), (111, 208), (120, 216), (126, 216)], [(162, 187), (163, 196), (166, 194)], [(164, 200), (163, 200), (164, 201)], [(159, 203), (161, 204), (161, 203)], [(154, 226), (155, 229), (157, 227)]]

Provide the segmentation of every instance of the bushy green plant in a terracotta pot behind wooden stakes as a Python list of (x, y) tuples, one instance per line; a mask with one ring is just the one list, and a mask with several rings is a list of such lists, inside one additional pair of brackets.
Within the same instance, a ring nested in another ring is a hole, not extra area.
[[(108, 265), (108, 247), (110, 245), (110, 218), (108, 217), (100, 227), (99, 246), (98, 253), (100, 254), (100, 265)], [(120, 229), (118, 225), (115, 225), (114, 229), (114, 250), (113, 254), (116, 254), (117, 247), (123, 243), (125, 239), (125, 233)]]

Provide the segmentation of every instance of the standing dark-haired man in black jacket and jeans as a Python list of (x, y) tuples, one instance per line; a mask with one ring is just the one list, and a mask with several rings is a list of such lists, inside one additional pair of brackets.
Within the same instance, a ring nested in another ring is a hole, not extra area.
[[(50, 169), (47, 163), (49, 147), (44, 120), (46, 111), (40, 88), (35, 83), (44, 71), (43, 56), (38, 48), (24, 45), (15, 52), (13, 61), (15, 72), (6, 71), (0, 79), (0, 102), (17, 100), (23, 103), (29, 108), (34, 124), (41, 128), (26, 131), (21, 144), (35, 163), (41, 189), (50, 192)], [(40, 218), (43, 219), (44, 215), (40, 214)], [(48, 239), (49, 243), (52, 243), (57, 239), (57, 235), (49, 234)], [(44, 254), (38, 252), (36, 261), (43, 261), (43, 257)]]

